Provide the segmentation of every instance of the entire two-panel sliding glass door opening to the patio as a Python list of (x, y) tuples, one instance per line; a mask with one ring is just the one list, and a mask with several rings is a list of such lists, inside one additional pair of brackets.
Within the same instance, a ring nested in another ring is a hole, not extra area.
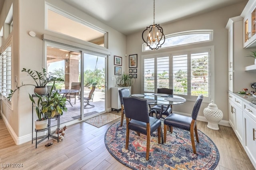
[(64, 80), (54, 87), (67, 99), (68, 111), (60, 117), (60, 123), (106, 112), (106, 56), (53, 43), (47, 43), (46, 56), (47, 72)]

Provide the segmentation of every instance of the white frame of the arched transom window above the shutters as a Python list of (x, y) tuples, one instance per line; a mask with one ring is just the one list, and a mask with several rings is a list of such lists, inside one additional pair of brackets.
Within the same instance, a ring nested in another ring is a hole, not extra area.
[[(192, 43), (184, 43), (180, 45), (168, 45), (166, 44), (168, 41), (168, 38), (178, 37), (178, 36), (185, 36), (185, 35), (193, 35), (193, 34), (209, 34), (209, 40), (204, 41), (198, 41), (198, 42), (192, 42)], [(159, 49), (166, 49), (166, 48), (172, 48), (172, 47), (178, 47), (178, 46), (184, 46), (184, 45), (191, 45), (191, 44), (197, 44), (197, 43), (205, 43), (205, 42), (212, 42), (213, 41), (213, 30), (192, 30), (192, 31), (185, 31), (185, 32), (178, 32), (174, 34), (169, 34), (165, 36), (165, 42)], [(146, 43), (142, 44), (142, 52), (144, 51), (150, 51), (146, 45)]]

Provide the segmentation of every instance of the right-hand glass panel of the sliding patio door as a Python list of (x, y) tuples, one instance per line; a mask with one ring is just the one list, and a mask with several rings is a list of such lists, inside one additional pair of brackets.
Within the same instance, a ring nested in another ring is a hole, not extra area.
[(84, 118), (106, 112), (106, 56), (83, 53)]

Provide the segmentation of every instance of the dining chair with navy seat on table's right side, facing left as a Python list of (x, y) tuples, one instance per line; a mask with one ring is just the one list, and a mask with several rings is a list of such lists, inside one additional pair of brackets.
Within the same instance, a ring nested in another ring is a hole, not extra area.
[(196, 136), (196, 141), (199, 143), (197, 128), (196, 128), (196, 118), (197, 118), (203, 98), (204, 98), (203, 95), (198, 95), (191, 117), (172, 113), (164, 119), (164, 143), (166, 142), (167, 126), (170, 126), (171, 133), (172, 133), (172, 127), (181, 128), (181, 129), (190, 131), (190, 138), (191, 138), (193, 152), (194, 154), (196, 154), (194, 132)]

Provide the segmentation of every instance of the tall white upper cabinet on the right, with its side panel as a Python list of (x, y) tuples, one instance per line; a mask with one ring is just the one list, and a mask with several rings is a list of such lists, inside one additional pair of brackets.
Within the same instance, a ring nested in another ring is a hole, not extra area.
[(252, 65), (254, 60), (251, 57), (245, 57), (250, 54), (250, 49), (244, 49), (242, 43), (243, 18), (241, 16), (230, 18), (226, 29), (228, 29), (228, 90), (238, 92), (244, 88), (250, 89), (250, 83), (255, 79), (255, 75), (244, 69)]

